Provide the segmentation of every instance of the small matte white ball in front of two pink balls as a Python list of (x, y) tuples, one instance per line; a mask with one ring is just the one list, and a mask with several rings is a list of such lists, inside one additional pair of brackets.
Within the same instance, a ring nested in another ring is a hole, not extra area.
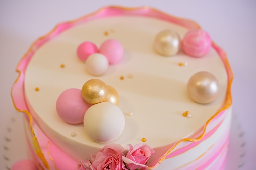
[(92, 75), (99, 76), (104, 74), (108, 69), (107, 58), (100, 54), (94, 53), (90, 55), (85, 61), (86, 70)]

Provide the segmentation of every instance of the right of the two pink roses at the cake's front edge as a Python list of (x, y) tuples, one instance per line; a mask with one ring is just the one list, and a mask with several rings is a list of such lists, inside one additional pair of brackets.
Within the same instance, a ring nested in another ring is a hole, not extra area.
[(127, 149), (128, 153), (126, 157), (122, 157), (124, 162), (123, 168), (129, 170), (148, 169), (148, 166), (145, 164), (147, 163), (147, 160), (151, 154), (155, 153), (155, 151), (150, 146), (141, 143), (133, 147), (131, 144), (128, 144)]

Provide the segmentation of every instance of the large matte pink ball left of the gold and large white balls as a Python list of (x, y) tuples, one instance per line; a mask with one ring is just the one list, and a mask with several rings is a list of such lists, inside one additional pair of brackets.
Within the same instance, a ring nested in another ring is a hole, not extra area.
[(70, 124), (78, 124), (84, 121), (84, 115), (91, 104), (86, 103), (80, 89), (67, 89), (63, 91), (56, 102), (59, 117)]

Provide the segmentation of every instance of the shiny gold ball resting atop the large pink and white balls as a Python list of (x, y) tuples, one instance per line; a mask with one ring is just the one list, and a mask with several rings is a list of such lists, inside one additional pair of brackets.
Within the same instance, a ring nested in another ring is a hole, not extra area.
[(91, 79), (85, 82), (81, 93), (85, 102), (89, 104), (100, 103), (107, 98), (107, 85), (99, 79)]

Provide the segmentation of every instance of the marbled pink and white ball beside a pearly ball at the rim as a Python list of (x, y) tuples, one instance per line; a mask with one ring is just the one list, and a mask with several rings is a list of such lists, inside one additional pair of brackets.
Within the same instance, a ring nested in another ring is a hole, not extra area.
[(205, 56), (209, 52), (211, 45), (211, 37), (201, 29), (188, 31), (182, 41), (184, 52), (197, 58)]

